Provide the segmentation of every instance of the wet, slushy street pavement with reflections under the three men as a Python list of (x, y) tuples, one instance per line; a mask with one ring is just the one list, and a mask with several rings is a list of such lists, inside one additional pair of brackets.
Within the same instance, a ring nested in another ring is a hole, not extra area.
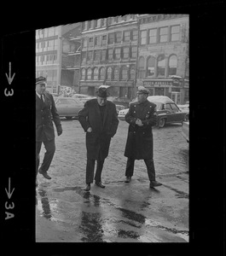
[[(181, 125), (154, 128), (156, 179), (148, 188), (143, 160), (136, 160), (130, 183), (124, 183), (128, 124), (119, 121), (105, 160), (105, 189), (85, 192), (86, 149), (78, 120), (62, 119), (56, 137), (51, 180), (38, 175), (36, 241), (188, 242), (188, 143)], [(43, 159), (42, 148), (40, 157)]]

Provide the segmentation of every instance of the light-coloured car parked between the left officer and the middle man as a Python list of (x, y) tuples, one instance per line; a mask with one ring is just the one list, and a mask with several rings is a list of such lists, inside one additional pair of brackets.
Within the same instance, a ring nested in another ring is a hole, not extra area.
[(55, 107), (61, 117), (72, 119), (78, 117), (78, 111), (84, 108), (84, 103), (72, 97), (55, 97)]

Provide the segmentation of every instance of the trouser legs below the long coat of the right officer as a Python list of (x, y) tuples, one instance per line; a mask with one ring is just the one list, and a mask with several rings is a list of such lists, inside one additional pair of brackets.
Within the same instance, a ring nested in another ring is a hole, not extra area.
[[(135, 159), (131, 159), (131, 158), (127, 159), (125, 176), (127, 176), (127, 177), (133, 176), (134, 162), (135, 162)], [(153, 159), (144, 159), (144, 162), (147, 166), (149, 181), (155, 181), (154, 160)]]

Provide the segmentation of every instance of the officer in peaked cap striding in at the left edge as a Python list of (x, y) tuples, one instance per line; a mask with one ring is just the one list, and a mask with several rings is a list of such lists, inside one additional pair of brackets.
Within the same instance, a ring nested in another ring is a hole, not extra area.
[[(55, 154), (55, 131), (52, 119), (54, 120), (58, 136), (62, 133), (61, 119), (55, 108), (53, 96), (45, 91), (46, 79), (36, 79), (36, 176), (39, 173), (50, 179), (47, 171)], [(42, 166), (39, 166), (39, 153), (45, 147), (45, 154)]]

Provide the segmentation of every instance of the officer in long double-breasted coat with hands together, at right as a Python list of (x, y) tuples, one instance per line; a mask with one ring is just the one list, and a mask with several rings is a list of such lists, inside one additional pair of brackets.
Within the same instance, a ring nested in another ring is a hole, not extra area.
[(130, 104), (125, 121), (129, 123), (128, 137), (125, 145), (125, 156), (128, 157), (125, 170), (125, 183), (130, 183), (134, 172), (135, 160), (144, 160), (150, 181), (150, 188), (160, 186), (155, 180), (153, 160), (153, 132), (152, 126), (156, 125), (156, 105), (148, 102), (149, 90), (139, 86), (137, 102)]

